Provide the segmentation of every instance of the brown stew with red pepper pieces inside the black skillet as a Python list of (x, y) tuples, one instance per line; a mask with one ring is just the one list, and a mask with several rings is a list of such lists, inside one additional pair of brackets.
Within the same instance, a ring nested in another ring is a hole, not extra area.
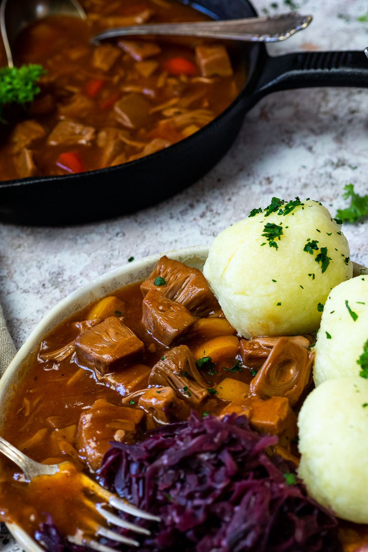
[[(195, 38), (124, 38), (102, 29), (209, 19), (173, 0), (84, 0), (88, 19), (26, 29), (15, 65), (41, 64), (41, 92), (1, 125), (0, 179), (77, 173), (150, 155), (210, 123), (245, 81), (236, 50)], [(4, 60), (2, 60), (4, 65)]]

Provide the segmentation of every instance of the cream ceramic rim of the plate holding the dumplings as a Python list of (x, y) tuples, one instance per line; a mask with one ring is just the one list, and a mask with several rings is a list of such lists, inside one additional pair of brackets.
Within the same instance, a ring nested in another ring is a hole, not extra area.
[[(140, 279), (147, 277), (158, 259), (163, 255), (167, 255), (180, 262), (188, 262), (189, 266), (201, 268), (206, 261), (208, 253), (209, 246), (183, 247), (166, 253), (156, 253), (110, 270), (68, 294), (42, 317), (4, 372), (0, 379), (0, 410), (6, 401), (6, 395), (12, 386), (12, 381), (17, 375), (18, 369), (22, 367), (28, 355), (34, 354), (36, 349), (38, 350), (42, 337), (58, 326), (63, 320), (66, 320), (84, 306), (88, 306), (93, 300), (103, 298), (108, 293), (113, 293), (113, 291), (124, 285), (138, 282)], [(360, 274), (368, 274), (368, 268), (353, 262), (353, 277)], [(17, 524), (6, 523), (6, 526), (25, 552), (44, 552), (44, 549), (39, 546), (36, 540), (30, 537)]]

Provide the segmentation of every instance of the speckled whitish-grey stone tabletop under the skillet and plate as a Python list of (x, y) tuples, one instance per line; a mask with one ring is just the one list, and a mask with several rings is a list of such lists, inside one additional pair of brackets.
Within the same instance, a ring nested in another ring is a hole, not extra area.
[[(259, 13), (289, 11), (290, 2), (255, 0)], [(273, 5), (273, 4), (272, 4)], [(364, 0), (305, 0), (311, 26), (269, 47), (295, 50), (357, 49), (368, 45)], [(368, 19), (368, 17), (367, 17)], [(367, 60), (368, 64), (368, 60)], [(50, 307), (93, 278), (134, 256), (209, 244), (250, 209), (285, 199), (319, 199), (333, 216), (345, 206), (343, 187), (368, 192), (368, 92), (305, 89), (263, 99), (247, 115), (227, 156), (201, 181), (162, 204), (97, 224), (63, 229), (0, 225), (0, 302), (19, 347)], [(368, 221), (346, 224), (351, 258), (368, 265)], [(16, 545), (2, 533), (2, 550)], [(1, 535), (0, 535), (1, 539)]]

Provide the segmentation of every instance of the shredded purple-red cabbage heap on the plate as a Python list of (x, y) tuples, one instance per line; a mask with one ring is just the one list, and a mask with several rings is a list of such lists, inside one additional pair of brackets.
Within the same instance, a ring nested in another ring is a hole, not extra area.
[[(134, 519), (152, 532), (141, 539), (142, 552), (337, 552), (337, 520), (300, 482), (287, 485), (284, 474), (294, 473), (294, 464), (265, 452), (276, 442), (250, 431), (245, 417), (193, 414), (135, 445), (111, 443), (98, 476), (161, 517), (161, 523)], [(43, 524), (36, 538), (64, 552), (46, 539), (50, 530)]]

